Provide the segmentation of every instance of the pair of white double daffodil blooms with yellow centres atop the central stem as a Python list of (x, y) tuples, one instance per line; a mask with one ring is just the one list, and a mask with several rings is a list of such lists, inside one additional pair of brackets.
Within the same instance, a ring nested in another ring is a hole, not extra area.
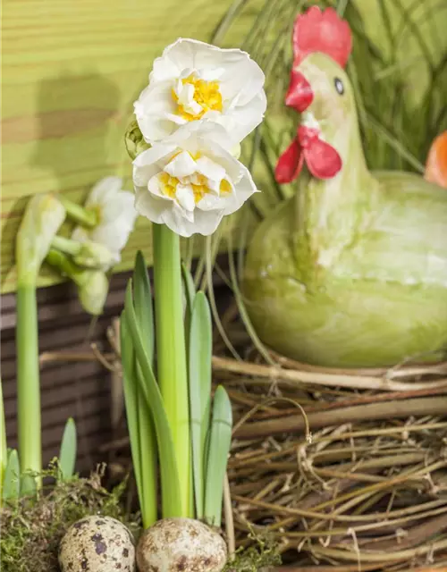
[(133, 164), (139, 214), (184, 237), (209, 235), (256, 192), (234, 149), (262, 122), (264, 80), (238, 49), (191, 39), (165, 48), (135, 103), (152, 145)]

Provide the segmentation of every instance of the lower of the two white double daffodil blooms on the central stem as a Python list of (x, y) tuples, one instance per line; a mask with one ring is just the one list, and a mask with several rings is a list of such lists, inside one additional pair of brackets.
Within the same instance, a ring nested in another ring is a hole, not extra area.
[(135, 207), (183, 237), (212, 234), (257, 192), (249, 170), (227, 151), (231, 138), (213, 122), (191, 122), (133, 162)]

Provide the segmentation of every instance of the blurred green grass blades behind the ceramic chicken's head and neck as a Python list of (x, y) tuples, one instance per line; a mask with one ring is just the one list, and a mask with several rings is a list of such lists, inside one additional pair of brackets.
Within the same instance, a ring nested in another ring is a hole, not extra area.
[(279, 189), (274, 165), (288, 145), (299, 116), (285, 108), (291, 71), (291, 28), (310, 5), (335, 7), (352, 29), (348, 73), (370, 169), (424, 172), (436, 135), (447, 130), (447, 2), (445, 0), (236, 0), (216, 30), (225, 46), (230, 30), (253, 25), (240, 47), (266, 72), (266, 121), (243, 149), (267, 196), (253, 202), (261, 216), (293, 189)]

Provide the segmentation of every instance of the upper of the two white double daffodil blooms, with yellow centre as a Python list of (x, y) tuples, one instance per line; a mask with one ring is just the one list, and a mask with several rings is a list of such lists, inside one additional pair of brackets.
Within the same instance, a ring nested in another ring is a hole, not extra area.
[(185, 123), (210, 120), (223, 125), (234, 147), (262, 122), (264, 81), (246, 52), (180, 38), (156, 58), (134, 104), (139, 129), (153, 144)]

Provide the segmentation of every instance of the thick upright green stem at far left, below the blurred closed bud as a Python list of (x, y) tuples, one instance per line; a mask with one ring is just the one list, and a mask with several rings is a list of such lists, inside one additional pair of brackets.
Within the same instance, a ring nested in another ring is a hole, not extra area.
[[(19, 282), (16, 298), (17, 420), (21, 470), (42, 472), (36, 282)], [(37, 480), (38, 486), (41, 479)]]

